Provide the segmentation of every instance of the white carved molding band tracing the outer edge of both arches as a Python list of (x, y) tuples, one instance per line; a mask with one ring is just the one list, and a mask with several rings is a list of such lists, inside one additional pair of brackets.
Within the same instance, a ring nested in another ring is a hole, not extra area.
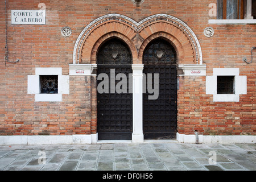
[(84, 45), (84, 42), (89, 37), (89, 35), (94, 30), (96, 30), (96, 28), (108, 22), (111, 23), (113, 21), (124, 24), (127, 27), (130, 27), (131, 30), (133, 30), (134, 32), (138, 32), (138, 34), (148, 26), (151, 26), (153, 23), (165, 22), (168, 24), (172, 24), (173, 26), (179, 28), (179, 30), (182, 31), (184, 35), (187, 36), (187, 38), (191, 42), (191, 46), (195, 51), (195, 63), (203, 64), (203, 55), (201, 52), (201, 46), (195, 33), (191, 30), (191, 28), (187, 26), (187, 24), (185, 24), (180, 19), (177, 19), (174, 16), (166, 15), (166, 14), (156, 14), (156, 15), (148, 16), (147, 18), (141, 20), (141, 22), (135, 22), (135, 20), (120, 14), (108, 14), (93, 20), (93, 22), (90, 22), (84, 28), (84, 30), (82, 30), (81, 34), (76, 40), (74, 51), (73, 51), (73, 64), (81, 63), (82, 46)]

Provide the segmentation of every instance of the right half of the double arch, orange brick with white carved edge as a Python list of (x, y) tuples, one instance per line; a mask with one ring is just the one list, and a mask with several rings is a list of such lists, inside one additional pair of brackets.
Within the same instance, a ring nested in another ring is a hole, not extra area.
[[(138, 33), (146, 40), (151, 35), (164, 32), (180, 42), (184, 50), (184, 64), (203, 64), (201, 46), (191, 28), (182, 20), (171, 15), (156, 14), (138, 23)], [(140, 55), (139, 55), (140, 56)]]

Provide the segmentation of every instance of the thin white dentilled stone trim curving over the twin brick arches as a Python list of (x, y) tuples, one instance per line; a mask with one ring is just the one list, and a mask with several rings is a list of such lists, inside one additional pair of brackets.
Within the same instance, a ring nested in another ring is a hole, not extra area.
[(174, 16), (167, 15), (167, 14), (156, 14), (148, 16), (147, 18), (141, 20), (141, 22), (135, 22), (135, 20), (121, 14), (108, 14), (104, 16), (100, 16), (99, 18), (93, 20), (90, 22), (84, 30), (80, 33), (79, 37), (76, 40), (74, 51), (73, 51), (73, 64), (79, 64), (80, 60), (80, 51), (82, 48), (82, 45), (84, 44), (84, 41), (86, 39), (86, 36), (92, 32), (92, 30), (97, 27), (101, 23), (106, 23), (110, 20), (118, 20), (122, 23), (127, 23), (130, 26), (134, 28), (135, 31), (141, 30), (141, 28), (146, 27), (149, 21), (158, 20), (158, 18), (164, 18), (168, 22), (175, 23), (177, 26), (180, 27), (180, 30), (188, 36), (189, 40), (192, 42), (192, 46), (195, 49), (196, 52), (196, 64), (203, 64), (203, 55), (201, 51), (201, 46), (199, 43), (199, 40), (197, 39), (195, 33), (191, 30), (191, 28), (185, 24), (182, 20), (175, 18)]

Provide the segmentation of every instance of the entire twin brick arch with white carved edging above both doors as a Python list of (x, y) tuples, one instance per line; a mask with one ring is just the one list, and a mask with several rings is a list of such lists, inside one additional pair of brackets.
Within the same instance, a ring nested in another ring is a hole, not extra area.
[(142, 63), (142, 52), (152, 39), (162, 37), (176, 48), (179, 64), (203, 64), (201, 46), (191, 28), (171, 15), (156, 14), (135, 22), (120, 14), (97, 18), (79, 35), (73, 51), (73, 64), (96, 63), (97, 48), (115, 36), (128, 44), (133, 53), (133, 64)]

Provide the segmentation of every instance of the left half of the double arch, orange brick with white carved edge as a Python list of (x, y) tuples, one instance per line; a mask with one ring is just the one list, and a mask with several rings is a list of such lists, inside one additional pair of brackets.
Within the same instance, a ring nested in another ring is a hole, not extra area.
[(137, 34), (135, 21), (126, 16), (110, 14), (101, 16), (88, 24), (76, 41), (73, 51), (73, 64), (90, 64), (91, 53), (94, 51), (93, 48), (95, 48), (96, 42), (106, 38), (106, 36), (112, 36), (112, 34), (119, 38), (123, 36), (125, 42), (126, 39), (131, 42), (130, 40)]

